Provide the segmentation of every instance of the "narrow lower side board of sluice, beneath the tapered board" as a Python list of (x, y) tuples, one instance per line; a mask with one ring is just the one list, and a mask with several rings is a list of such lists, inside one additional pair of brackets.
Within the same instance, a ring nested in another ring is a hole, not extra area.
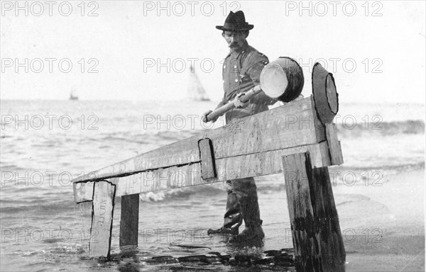
[[(322, 142), (316, 145), (217, 159), (217, 176), (213, 179), (208, 179), (208, 181), (202, 179), (200, 163), (146, 171), (131, 176), (110, 179), (109, 181), (117, 186), (116, 196), (126, 196), (135, 193), (146, 193), (202, 184), (209, 185), (210, 183), (227, 181), (229, 179), (242, 179), (251, 176), (281, 173), (283, 171), (281, 157), (286, 154), (297, 152), (310, 152), (312, 167), (331, 165), (327, 142)], [(77, 191), (91, 190), (91, 188), (87, 186), (80, 186), (77, 189), (76, 184), (78, 183), (74, 183), (74, 188)], [(80, 191), (75, 193), (75, 195), (89, 196), (89, 193)], [(75, 198), (76, 203), (89, 200), (91, 200), (91, 198)]]

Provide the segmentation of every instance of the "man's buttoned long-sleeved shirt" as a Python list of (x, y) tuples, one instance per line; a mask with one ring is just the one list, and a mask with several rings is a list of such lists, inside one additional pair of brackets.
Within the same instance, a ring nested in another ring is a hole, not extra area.
[[(239, 93), (245, 93), (260, 84), (263, 67), (269, 63), (268, 57), (251, 47), (247, 42), (240, 52), (230, 52), (222, 69), (224, 81), (224, 97), (217, 108), (233, 100)], [(234, 108), (226, 113), (226, 123), (234, 118), (244, 118), (249, 115), (268, 110), (276, 100), (269, 98), (263, 92), (251, 98), (249, 106)]]

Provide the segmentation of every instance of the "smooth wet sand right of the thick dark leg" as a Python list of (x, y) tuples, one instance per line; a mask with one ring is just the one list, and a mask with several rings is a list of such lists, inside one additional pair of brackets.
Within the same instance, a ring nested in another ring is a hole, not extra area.
[(425, 271), (425, 170), (334, 186), (346, 271)]

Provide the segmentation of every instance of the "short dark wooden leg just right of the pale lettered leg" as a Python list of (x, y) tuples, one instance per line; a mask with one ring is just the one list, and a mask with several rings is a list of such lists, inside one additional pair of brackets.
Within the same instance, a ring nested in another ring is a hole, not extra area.
[(139, 194), (121, 196), (120, 246), (138, 245)]

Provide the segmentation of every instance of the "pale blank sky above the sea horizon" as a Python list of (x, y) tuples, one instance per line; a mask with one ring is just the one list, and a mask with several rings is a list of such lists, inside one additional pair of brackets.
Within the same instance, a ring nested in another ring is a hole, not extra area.
[[(17, 4), (18, 3), (18, 6)], [(351, 103), (424, 103), (425, 1), (1, 1), (1, 99), (182, 100), (190, 65), (223, 96), (229, 11), (249, 45), (312, 66)]]

